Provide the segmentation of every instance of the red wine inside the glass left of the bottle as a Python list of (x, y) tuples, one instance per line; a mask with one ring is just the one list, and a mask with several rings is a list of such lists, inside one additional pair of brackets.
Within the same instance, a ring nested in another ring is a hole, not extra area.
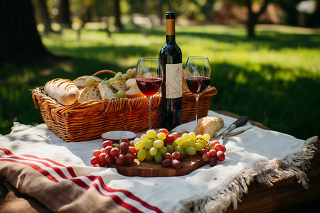
[(162, 79), (159, 77), (139, 77), (136, 79), (140, 91), (151, 97), (158, 92), (161, 87)]

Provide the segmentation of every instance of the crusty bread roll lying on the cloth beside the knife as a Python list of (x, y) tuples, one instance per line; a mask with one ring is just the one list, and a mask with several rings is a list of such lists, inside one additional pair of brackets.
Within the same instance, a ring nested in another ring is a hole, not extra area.
[(215, 116), (206, 116), (198, 122), (196, 128), (194, 129), (194, 133), (198, 134), (206, 134), (208, 133), (210, 137), (214, 137), (215, 133), (225, 126), (223, 119)]

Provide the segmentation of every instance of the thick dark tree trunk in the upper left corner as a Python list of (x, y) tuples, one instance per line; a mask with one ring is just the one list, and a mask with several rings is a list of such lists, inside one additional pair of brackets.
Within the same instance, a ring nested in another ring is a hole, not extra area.
[(31, 0), (0, 1), (0, 65), (53, 57), (41, 42)]

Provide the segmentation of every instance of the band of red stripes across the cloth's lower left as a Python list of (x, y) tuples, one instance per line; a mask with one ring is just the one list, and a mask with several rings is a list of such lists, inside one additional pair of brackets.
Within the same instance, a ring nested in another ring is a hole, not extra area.
[[(34, 155), (22, 155), (24, 157), (27, 158), (33, 158), (33, 159), (24, 159), (21, 157), (18, 157), (17, 155), (14, 155), (13, 153), (11, 153), (8, 149), (5, 148), (0, 148), (0, 151), (3, 151), (4, 153), (6, 153), (6, 155), (9, 155), (9, 158), (13, 158), (16, 160), (11, 160), (11, 159), (1, 159), (4, 158), (3, 156), (0, 155), (0, 161), (3, 160), (7, 160), (7, 161), (11, 161), (11, 162), (15, 162), (15, 163), (21, 163), (24, 165), (28, 165), (31, 168), (33, 168), (34, 170), (39, 171), (41, 174), (43, 174), (46, 178), (48, 178), (48, 180), (51, 180), (53, 182), (58, 182), (57, 179), (55, 179), (53, 177), (53, 175), (51, 175), (47, 170), (41, 168), (40, 166), (33, 164), (33, 163), (27, 163), (25, 161), (17, 161), (17, 160), (31, 160), (31, 161), (35, 161), (37, 163), (41, 163), (43, 165), (45, 165), (47, 168), (51, 168), (53, 169), (59, 176), (60, 178), (63, 179), (67, 179), (67, 180), (71, 180), (73, 182), (75, 182), (76, 185), (84, 188), (85, 190), (88, 190), (90, 188), (90, 185), (87, 185), (86, 182), (84, 182), (83, 180), (81, 180), (80, 178), (77, 178), (77, 175), (75, 175), (75, 172), (73, 170), (72, 167), (66, 167), (58, 162), (55, 162), (53, 160), (50, 160), (48, 158), (38, 158)], [(73, 178), (68, 178), (65, 176), (65, 174), (63, 173), (62, 170), (60, 170), (60, 168), (58, 167), (52, 167), (50, 166), (48, 163), (43, 162), (43, 160), (45, 161), (49, 161), (50, 163), (53, 163), (55, 165), (58, 165), (60, 167), (66, 168), (68, 170), (68, 173), (70, 174), (71, 177)], [(93, 181), (98, 180), (100, 182), (101, 187), (106, 190), (107, 192), (121, 192), (122, 194), (124, 194), (126, 197), (128, 197), (131, 200), (135, 200), (136, 202), (139, 202), (140, 204), (142, 204), (144, 207), (146, 207), (147, 209), (150, 209), (151, 211), (154, 212), (161, 212), (160, 209), (158, 209), (157, 207), (151, 206), (150, 204), (144, 202), (143, 200), (139, 199), (139, 197), (136, 197), (132, 194), (132, 192), (129, 192), (127, 190), (114, 190), (110, 187), (107, 187), (107, 185), (105, 185), (105, 183), (103, 182), (102, 178), (100, 176), (94, 176), (94, 175), (88, 175), (88, 176), (84, 176), (85, 178), (88, 178), (91, 182), (92, 182), (92, 187), (95, 187), (95, 189), (103, 196), (107, 196), (107, 197), (111, 197), (112, 200), (114, 200), (114, 202), (116, 202), (118, 205), (129, 209), (132, 212), (141, 212), (139, 209), (137, 209), (136, 207), (132, 206), (131, 204), (128, 204), (127, 202), (124, 202), (120, 197), (118, 197), (117, 195), (105, 195), (103, 192), (100, 191), (99, 186), (96, 183), (93, 183)]]

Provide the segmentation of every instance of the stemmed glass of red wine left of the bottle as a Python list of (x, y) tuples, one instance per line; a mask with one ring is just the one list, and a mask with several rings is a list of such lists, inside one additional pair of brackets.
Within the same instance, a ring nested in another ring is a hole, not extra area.
[(158, 92), (164, 73), (159, 58), (142, 57), (138, 60), (136, 81), (140, 91), (149, 98), (149, 129), (151, 129), (151, 97)]

